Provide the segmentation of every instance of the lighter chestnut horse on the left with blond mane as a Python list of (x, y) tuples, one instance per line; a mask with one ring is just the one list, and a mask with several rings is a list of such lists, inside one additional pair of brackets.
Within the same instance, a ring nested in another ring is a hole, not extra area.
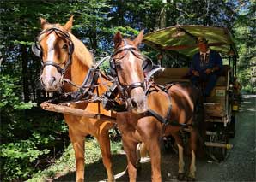
[[(76, 91), (75, 86), (64, 84), (63, 79), (70, 79), (75, 85), (82, 85), (88, 69), (93, 64), (93, 56), (88, 49), (70, 32), (72, 23), (73, 16), (64, 26), (50, 24), (41, 19), (42, 32), (33, 50), (35, 55), (41, 58), (40, 81), (46, 91)], [(97, 90), (101, 95), (106, 88), (100, 85)], [(98, 103), (71, 104), (70, 107), (111, 115), (110, 111), (103, 109)], [(64, 114), (64, 120), (69, 126), (70, 141), (75, 150), (76, 181), (84, 180), (84, 142), (88, 134), (93, 135), (99, 142), (107, 180), (114, 181), (108, 134), (114, 123), (69, 114)]]

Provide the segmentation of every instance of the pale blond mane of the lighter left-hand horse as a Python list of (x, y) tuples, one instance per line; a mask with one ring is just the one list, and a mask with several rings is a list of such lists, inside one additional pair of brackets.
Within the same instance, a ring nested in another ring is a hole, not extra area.
[[(70, 35), (70, 38), (74, 44), (73, 58), (75, 56), (80, 62), (82, 62), (84, 66), (91, 68), (93, 65), (93, 55), (88, 51), (87, 47), (82, 43), (82, 41), (76, 38), (71, 32), (67, 32), (60, 24), (46, 24), (45, 30), (52, 27), (57, 27), (61, 31)], [(44, 38), (44, 35), (40, 35), (38, 40), (40, 41), (42, 38)]]

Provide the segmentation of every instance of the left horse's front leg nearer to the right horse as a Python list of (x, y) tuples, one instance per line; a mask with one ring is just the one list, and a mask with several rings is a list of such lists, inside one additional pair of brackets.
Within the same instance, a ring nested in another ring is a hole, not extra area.
[(107, 170), (107, 181), (115, 181), (111, 162), (109, 133), (107, 130), (102, 131), (101, 134), (96, 138), (100, 144), (102, 161)]

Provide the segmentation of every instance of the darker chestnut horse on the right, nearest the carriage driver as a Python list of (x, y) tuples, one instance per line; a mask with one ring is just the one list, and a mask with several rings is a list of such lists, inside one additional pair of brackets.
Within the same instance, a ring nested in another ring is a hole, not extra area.
[(202, 106), (200, 92), (190, 83), (163, 87), (147, 81), (143, 73), (143, 62), (148, 62), (148, 59), (138, 50), (142, 40), (143, 31), (133, 40), (122, 38), (119, 32), (113, 38), (111, 65), (117, 77), (119, 94), (125, 97), (128, 109), (126, 114), (117, 114), (117, 124), (127, 156), (129, 179), (136, 181), (136, 147), (143, 142), (151, 159), (151, 179), (162, 180), (160, 141), (163, 136), (169, 135), (174, 137), (179, 149), (178, 179), (184, 179), (184, 146), (179, 133), (186, 129), (191, 136), (192, 156), (188, 179), (194, 180), (198, 132), (203, 122), (202, 118), (198, 120), (200, 118), (196, 117), (201, 110), (196, 106)]

